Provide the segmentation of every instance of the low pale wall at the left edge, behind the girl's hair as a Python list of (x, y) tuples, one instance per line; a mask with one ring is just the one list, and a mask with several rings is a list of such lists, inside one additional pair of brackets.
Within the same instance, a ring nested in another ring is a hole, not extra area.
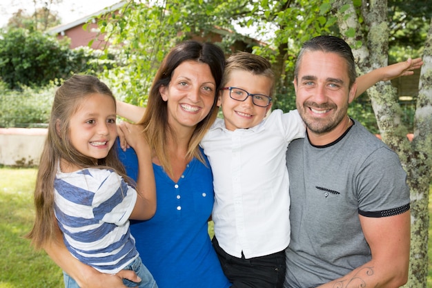
[(0, 165), (37, 166), (46, 128), (0, 128)]

